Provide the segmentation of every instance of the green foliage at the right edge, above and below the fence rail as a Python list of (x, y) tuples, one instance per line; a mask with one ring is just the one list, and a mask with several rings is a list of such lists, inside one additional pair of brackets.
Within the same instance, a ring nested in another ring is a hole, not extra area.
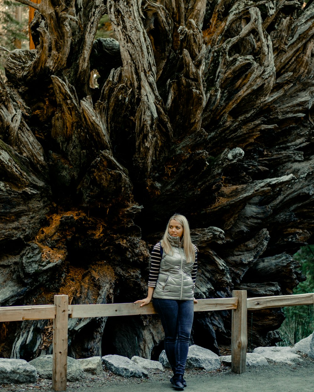
[[(294, 259), (299, 261), (302, 273), (307, 277), (294, 289), (294, 294), (314, 292), (314, 245), (302, 247)], [(293, 346), (303, 338), (309, 336), (314, 330), (313, 305), (291, 306), (283, 308), (286, 319), (278, 332), (283, 341), (280, 346)]]

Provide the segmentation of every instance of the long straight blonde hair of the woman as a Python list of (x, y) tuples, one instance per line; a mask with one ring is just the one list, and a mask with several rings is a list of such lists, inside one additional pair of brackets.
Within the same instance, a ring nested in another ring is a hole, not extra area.
[(163, 252), (165, 252), (166, 254), (172, 253), (171, 243), (168, 238), (169, 225), (170, 225), (170, 221), (172, 219), (179, 222), (180, 225), (182, 225), (182, 227), (183, 227), (183, 237), (184, 237), (183, 249), (184, 249), (184, 253), (185, 253), (185, 257), (186, 257), (186, 262), (187, 263), (190, 263), (191, 261), (194, 262), (195, 248), (194, 248), (194, 245), (192, 244), (192, 241), (191, 241), (189, 223), (184, 215), (175, 214), (169, 219), (168, 225), (167, 225), (166, 230), (164, 232), (164, 236), (163, 236), (162, 240), (160, 241)]

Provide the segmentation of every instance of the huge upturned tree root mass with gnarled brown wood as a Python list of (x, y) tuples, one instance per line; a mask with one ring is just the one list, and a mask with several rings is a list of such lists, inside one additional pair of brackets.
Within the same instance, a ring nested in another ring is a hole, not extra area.
[[(196, 298), (291, 294), (314, 232), (314, 5), (20, 2), (35, 49), (0, 80), (0, 305), (142, 298), (175, 212), (199, 247)], [(117, 40), (94, 40), (105, 13)], [(279, 341), (280, 310), (253, 316), (252, 344)], [(192, 341), (219, 352), (230, 323), (197, 314)], [(49, 352), (49, 331), (4, 324), (0, 354)], [(75, 358), (157, 359), (162, 339), (156, 316), (69, 320)]]

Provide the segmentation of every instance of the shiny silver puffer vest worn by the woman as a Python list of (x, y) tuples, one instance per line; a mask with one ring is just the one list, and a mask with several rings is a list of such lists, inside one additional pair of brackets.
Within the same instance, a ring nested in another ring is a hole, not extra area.
[(162, 253), (160, 269), (153, 298), (182, 299), (194, 298), (194, 283), (191, 272), (194, 260), (186, 262), (183, 241), (169, 236), (172, 254)]

